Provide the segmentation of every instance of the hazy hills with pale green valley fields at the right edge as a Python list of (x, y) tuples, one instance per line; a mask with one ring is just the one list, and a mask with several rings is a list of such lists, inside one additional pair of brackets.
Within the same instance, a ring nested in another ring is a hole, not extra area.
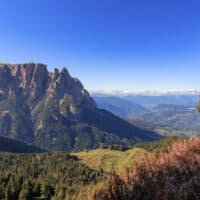
[[(151, 128), (166, 135), (200, 135), (200, 113), (196, 106), (158, 105), (150, 111), (135, 115), (130, 121), (137, 126)], [(139, 125), (143, 122), (143, 125)]]

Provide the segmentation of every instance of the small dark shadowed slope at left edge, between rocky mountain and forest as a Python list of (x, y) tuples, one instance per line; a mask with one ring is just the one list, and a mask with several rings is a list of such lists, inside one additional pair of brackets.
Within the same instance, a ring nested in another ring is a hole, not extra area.
[(0, 152), (42, 153), (45, 151), (40, 148), (27, 145), (23, 142), (0, 136)]

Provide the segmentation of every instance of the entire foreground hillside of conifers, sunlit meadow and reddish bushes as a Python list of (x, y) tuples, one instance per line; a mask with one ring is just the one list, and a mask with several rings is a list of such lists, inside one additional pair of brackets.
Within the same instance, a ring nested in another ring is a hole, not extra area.
[(71, 155), (0, 153), (0, 199), (195, 199), (199, 150), (199, 138), (171, 137)]

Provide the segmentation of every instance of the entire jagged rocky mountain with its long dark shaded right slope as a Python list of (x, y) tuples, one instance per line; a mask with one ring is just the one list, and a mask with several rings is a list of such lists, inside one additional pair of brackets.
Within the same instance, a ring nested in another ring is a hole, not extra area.
[(159, 138), (97, 109), (66, 68), (35, 63), (0, 64), (0, 134), (64, 151)]

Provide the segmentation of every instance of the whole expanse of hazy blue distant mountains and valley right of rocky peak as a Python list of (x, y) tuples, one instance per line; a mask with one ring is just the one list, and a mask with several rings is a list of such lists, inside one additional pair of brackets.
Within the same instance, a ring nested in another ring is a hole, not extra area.
[(167, 136), (193, 136), (200, 133), (200, 113), (196, 109), (198, 96), (194, 94), (94, 96), (94, 99), (99, 107), (142, 129)]

